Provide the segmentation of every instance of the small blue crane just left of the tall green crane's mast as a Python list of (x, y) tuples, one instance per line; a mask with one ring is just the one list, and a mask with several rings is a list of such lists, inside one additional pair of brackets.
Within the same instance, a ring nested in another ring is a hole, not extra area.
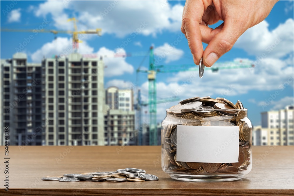
[[(148, 106), (149, 102), (142, 102), (141, 100), (141, 90), (138, 89), (137, 94), (138, 100), (137, 104), (135, 104), (135, 109), (137, 110), (137, 124), (138, 124), (138, 145), (141, 146), (143, 144), (143, 124), (142, 124), (142, 107)], [(166, 98), (166, 99), (157, 99), (156, 104), (168, 103), (179, 101), (180, 98)]]

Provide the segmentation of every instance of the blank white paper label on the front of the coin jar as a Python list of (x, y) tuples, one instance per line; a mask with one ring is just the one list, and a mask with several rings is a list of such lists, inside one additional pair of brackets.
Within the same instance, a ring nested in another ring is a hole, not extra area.
[(239, 127), (177, 126), (177, 160), (201, 163), (236, 163)]

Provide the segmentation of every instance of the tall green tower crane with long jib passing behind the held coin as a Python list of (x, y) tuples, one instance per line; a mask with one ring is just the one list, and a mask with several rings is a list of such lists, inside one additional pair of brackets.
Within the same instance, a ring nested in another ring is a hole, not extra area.
[[(239, 61), (239, 62), (225, 62), (215, 63), (212, 67), (206, 67), (207, 70), (212, 72), (218, 72), (220, 69), (238, 69), (254, 67), (251, 61)], [(141, 70), (137, 69), (137, 72), (147, 73), (148, 78), (148, 106), (149, 106), (149, 145), (157, 145), (157, 108), (156, 108), (156, 74), (157, 73), (172, 73), (172, 72), (186, 72), (186, 71), (198, 71), (198, 67), (195, 64), (183, 64), (183, 65), (156, 65), (154, 63), (153, 46), (149, 50), (149, 69)]]

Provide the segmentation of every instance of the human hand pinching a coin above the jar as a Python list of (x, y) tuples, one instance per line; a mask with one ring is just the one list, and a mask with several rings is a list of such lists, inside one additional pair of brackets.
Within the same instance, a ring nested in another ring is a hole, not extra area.
[[(278, 0), (186, 0), (181, 31), (195, 64), (211, 67), (250, 27), (263, 21)], [(224, 21), (211, 29), (208, 25)], [(208, 24), (208, 25), (207, 25)], [(203, 52), (202, 42), (207, 43)]]

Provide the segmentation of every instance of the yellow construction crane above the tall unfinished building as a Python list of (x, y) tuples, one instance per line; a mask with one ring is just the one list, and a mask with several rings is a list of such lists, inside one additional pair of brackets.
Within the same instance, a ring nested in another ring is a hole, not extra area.
[[(78, 52), (78, 43), (81, 43), (82, 41), (78, 39), (79, 34), (97, 34), (98, 36), (101, 36), (102, 29), (88, 29), (85, 31), (78, 31), (76, 26), (76, 18), (70, 18), (67, 21), (73, 21), (74, 22), (74, 31), (57, 31), (57, 30), (45, 30), (40, 29), (37, 30), (38, 33), (53, 33), (53, 34), (72, 34), (73, 35), (73, 52)], [(1, 29), (1, 31), (6, 32), (36, 32), (36, 29)]]

